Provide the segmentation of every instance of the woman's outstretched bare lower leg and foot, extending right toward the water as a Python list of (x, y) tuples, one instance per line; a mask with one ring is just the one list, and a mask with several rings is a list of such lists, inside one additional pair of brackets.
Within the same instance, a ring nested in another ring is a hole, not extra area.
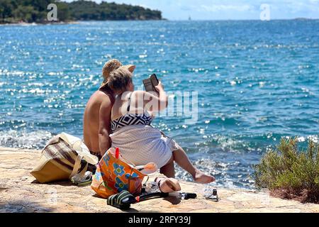
[(191, 161), (189, 160), (189, 157), (187, 157), (185, 151), (183, 148), (179, 146), (178, 150), (174, 150), (173, 152), (174, 161), (177, 162), (177, 164), (187, 172), (191, 174), (191, 176), (194, 178), (194, 181), (201, 184), (208, 184), (215, 181), (215, 178), (210, 175), (206, 175), (201, 170), (198, 170), (196, 167), (194, 167), (193, 164), (191, 164)]

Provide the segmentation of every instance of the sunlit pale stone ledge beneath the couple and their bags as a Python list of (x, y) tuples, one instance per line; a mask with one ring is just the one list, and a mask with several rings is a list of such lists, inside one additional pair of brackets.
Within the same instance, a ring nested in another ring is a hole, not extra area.
[(245, 189), (218, 189), (220, 201), (209, 201), (201, 196), (203, 185), (192, 182), (180, 182), (181, 189), (196, 192), (197, 199), (152, 199), (121, 211), (107, 206), (89, 186), (36, 183), (30, 170), (39, 157), (38, 150), (0, 148), (0, 212), (319, 212), (318, 204), (301, 204)]

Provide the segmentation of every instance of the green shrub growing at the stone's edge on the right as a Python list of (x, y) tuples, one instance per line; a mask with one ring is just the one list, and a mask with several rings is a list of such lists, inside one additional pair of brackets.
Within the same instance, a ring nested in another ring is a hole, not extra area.
[(309, 140), (306, 150), (299, 150), (296, 138), (282, 139), (254, 167), (258, 189), (270, 189), (274, 195), (319, 202), (319, 145)]

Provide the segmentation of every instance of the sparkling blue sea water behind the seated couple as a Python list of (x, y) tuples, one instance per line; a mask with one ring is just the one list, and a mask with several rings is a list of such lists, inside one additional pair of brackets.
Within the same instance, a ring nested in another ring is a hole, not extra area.
[[(218, 186), (254, 187), (252, 165), (280, 138), (318, 142), (319, 21), (118, 21), (0, 26), (0, 146), (82, 137), (86, 101), (110, 58), (198, 92), (198, 121), (155, 120)], [(177, 177), (189, 175), (177, 169)]]

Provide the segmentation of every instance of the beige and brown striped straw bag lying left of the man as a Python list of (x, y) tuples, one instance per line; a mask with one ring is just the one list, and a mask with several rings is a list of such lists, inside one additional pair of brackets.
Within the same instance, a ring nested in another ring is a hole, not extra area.
[(40, 183), (54, 182), (70, 179), (78, 172), (84, 175), (88, 163), (98, 162), (98, 157), (89, 153), (81, 139), (61, 133), (45, 145), (38, 166), (30, 173)]

